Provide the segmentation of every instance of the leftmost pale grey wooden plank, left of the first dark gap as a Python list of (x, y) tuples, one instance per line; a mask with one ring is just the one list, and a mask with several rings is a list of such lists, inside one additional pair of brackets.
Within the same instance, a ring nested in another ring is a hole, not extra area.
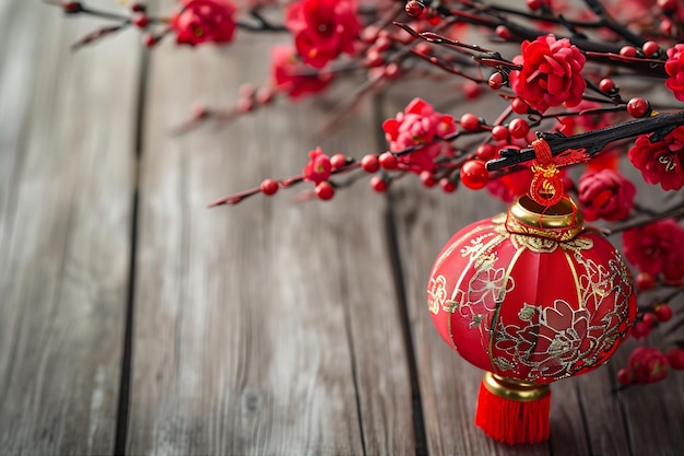
[[(0, 453), (114, 452), (138, 80), (133, 36), (0, 5)], [(133, 38), (133, 40), (131, 40)]]

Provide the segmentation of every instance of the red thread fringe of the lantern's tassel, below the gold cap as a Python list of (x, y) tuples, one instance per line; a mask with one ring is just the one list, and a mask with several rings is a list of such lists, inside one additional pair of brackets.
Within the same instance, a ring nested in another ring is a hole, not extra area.
[(551, 391), (540, 399), (520, 401), (503, 398), (480, 385), (475, 425), (498, 442), (509, 445), (549, 440)]

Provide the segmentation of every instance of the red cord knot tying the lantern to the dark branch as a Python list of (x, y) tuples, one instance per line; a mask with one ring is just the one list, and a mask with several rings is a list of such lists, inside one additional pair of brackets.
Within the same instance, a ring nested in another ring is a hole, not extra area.
[(557, 204), (565, 195), (559, 166), (586, 162), (589, 155), (586, 149), (568, 149), (554, 156), (551, 147), (543, 139), (532, 142), (536, 160), (532, 164), (532, 183), (529, 196), (532, 200), (546, 208)]

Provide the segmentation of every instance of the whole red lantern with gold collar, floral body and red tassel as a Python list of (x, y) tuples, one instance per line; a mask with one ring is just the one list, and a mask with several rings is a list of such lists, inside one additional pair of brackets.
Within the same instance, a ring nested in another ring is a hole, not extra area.
[(549, 439), (547, 384), (605, 363), (636, 316), (618, 252), (567, 198), (545, 208), (524, 196), (453, 235), (427, 302), (441, 337), (488, 371), (475, 424), (509, 444)]

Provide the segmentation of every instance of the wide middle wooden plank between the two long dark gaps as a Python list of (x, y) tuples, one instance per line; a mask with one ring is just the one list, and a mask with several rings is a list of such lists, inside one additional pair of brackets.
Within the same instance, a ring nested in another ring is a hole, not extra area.
[(317, 144), (374, 151), (370, 113), (320, 142), (325, 102), (168, 135), (193, 102), (227, 106), (268, 74), (261, 38), (151, 61), (128, 453), (414, 454), (382, 198), (358, 184), (329, 204), (294, 189), (205, 209), (300, 173)]

